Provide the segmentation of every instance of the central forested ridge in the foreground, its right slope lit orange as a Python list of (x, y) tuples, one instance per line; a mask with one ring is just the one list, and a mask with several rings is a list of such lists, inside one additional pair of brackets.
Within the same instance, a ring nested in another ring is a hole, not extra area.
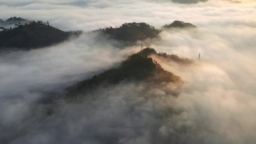
[(119, 67), (111, 68), (91, 79), (83, 80), (66, 88), (65, 98), (73, 99), (77, 96), (84, 96), (93, 92), (98, 86), (107, 87), (123, 80), (143, 80), (144, 82), (156, 83), (156, 85), (162, 82), (182, 82), (179, 76), (163, 70), (157, 61), (148, 57), (154, 53), (156, 53), (154, 49), (146, 48), (141, 52), (130, 55), (127, 60), (121, 62)]

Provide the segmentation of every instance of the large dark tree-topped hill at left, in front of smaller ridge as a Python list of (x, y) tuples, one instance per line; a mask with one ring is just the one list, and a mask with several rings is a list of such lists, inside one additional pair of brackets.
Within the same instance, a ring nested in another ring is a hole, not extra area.
[(81, 33), (61, 31), (42, 21), (19, 23), (14, 28), (0, 27), (0, 48), (34, 49), (51, 46), (67, 40), (72, 34), (78, 36)]

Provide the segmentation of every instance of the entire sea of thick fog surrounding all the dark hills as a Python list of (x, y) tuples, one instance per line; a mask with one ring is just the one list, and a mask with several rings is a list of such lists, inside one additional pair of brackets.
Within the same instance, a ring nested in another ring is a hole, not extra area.
[[(99, 88), (77, 103), (60, 100), (51, 105), (39, 99), (115, 67), (140, 46), (120, 49), (122, 43), (84, 33), (47, 48), (1, 51), (0, 140), (10, 144), (256, 143), (256, 3), (240, 2), (0, 2), (2, 19), (42, 19), (63, 30), (94, 30), (132, 21), (160, 28), (175, 19), (198, 26), (163, 31), (161, 40), (143, 42), (157, 52), (193, 58), (192, 64), (178, 64), (152, 56), (184, 83), (125, 81)], [(47, 114), (52, 107), (54, 112)]]

